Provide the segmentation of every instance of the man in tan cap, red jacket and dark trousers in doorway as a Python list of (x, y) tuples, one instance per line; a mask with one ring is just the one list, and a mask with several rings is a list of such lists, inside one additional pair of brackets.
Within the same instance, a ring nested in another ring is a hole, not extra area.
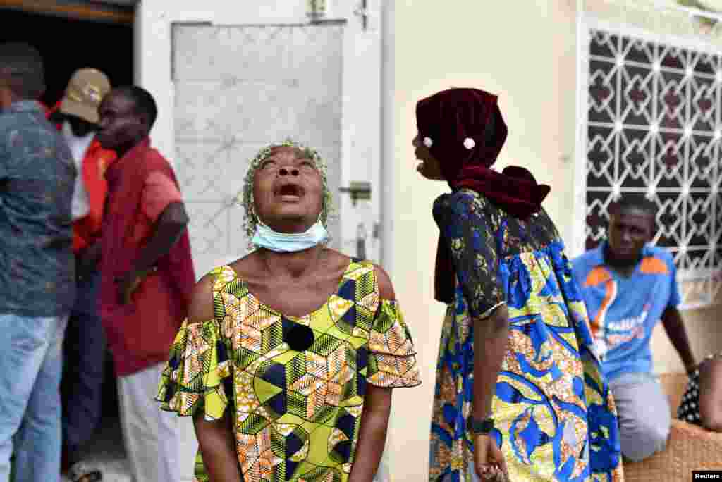
[(66, 330), (63, 401), (63, 469), (72, 481), (100, 480), (81, 460), (82, 445), (100, 419), (105, 336), (100, 320), (100, 227), (108, 185), (104, 174), (116, 153), (96, 139), (97, 108), (110, 92), (108, 77), (96, 69), (73, 74), (63, 99), (50, 114), (76, 163), (72, 199), (77, 294)]

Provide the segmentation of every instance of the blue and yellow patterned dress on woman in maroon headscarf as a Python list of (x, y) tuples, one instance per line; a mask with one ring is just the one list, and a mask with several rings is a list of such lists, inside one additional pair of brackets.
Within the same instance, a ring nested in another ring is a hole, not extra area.
[(466, 431), (472, 320), (484, 323), (506, 303), (509, 344), (492, 416), (511, 480), (622, 481), (614, 400), (552, 221), (544, 211), (527, 222), (509, 217), (471, 190), (441, 196), (434, 216), (451, 247), (457, 283), (441, 335), (429, 480), (478, 480)]

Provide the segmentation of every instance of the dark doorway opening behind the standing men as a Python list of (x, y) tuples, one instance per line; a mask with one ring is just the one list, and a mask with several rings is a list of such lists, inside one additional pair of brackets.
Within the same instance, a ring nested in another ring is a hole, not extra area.
[[(12, 3), (12, 2), (10, 2)], [(0, 6), (2, 29), (0, 43), (25, 42), (43, 56), (47, 89), (40, 99), (48, 107), (61, 100), (71, 75), (77, 69), (93, 67), (103, 71), (113, 86), (132, 84), (133, 25), (132, 9), (105, 9), (76, 2), (73, 8), (57, 2), (15, 2), (19, 6)], [(39, 4), (48, 8), (38, 8)], [(23, 8), (22, 4), (27, 4)], [(94, 13), (95, 12), (95, 13)], [(105, 12), (105, 13), (103, 13)], [(108, 15), (108, 12), (116, 14)], [(94, 16), (95, 15), (95, 16)], [(129, 21), (130, 20), (130, 21)], [(99, 465), (110, 473), (125, 469), (125, 452), (118, 413), (118, 392), (113, 361), (106, 349), (103, 382), (103, 407), (95, 434), (85, 444), (87, 463)], [(113, 479), (115, 480), (115, 479)]]

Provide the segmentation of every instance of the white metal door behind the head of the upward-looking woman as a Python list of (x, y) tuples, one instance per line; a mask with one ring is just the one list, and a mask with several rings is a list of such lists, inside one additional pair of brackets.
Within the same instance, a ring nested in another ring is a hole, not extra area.
[(261, 23), (252, 2), (233, 3), (227, 17), (171, 27), (174, 164), (198, 275), (246, 253), (234, 201), (248, 160), (287, 137), (329, 164), (331, 246), (378, 261), (378, 0), (366, 9), (339, 1), (316, 22), (298, 17), (297, 2), (279, 3)]

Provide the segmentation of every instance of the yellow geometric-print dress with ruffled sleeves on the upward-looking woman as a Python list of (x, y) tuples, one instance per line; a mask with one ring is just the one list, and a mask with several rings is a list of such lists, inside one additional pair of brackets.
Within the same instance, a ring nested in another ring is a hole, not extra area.
[[(398, 304), (380, 299), (373, 264), (353, 260), (336, 294), (304, 317), (261, 303), (229, 266), (212, 275), (214, 319), (183, 324), (162, 409), (207, 420), (230, 410), (245, 482), (346, 481), (367, 382), (420, 383), (409, 329)], [(287, 342), (299, 325), (313, 331), (305, 351)], [(195, 474), (209, 480), (200, 452)]]

